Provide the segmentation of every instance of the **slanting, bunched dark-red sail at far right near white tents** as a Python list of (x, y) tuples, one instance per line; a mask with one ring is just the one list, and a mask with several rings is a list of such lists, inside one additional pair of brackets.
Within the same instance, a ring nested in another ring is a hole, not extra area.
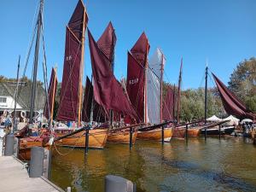
[(217, 84), (221, 100), (226, 113), (235, 115), (240, 119), (255, 119), (256, 115), (247, 110), (245, 105), (232, 93), (213, 73), (212, 76)]

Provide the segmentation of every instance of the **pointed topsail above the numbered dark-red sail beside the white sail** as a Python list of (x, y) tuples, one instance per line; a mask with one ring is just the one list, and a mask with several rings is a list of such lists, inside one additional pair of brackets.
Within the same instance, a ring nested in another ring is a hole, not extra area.
[(137, 39), (136, 44), (131, 48), (131, 54), (143, 67), (147, 63), (149, 48), (150, 45), (145, 32), (143, 32), (140, 38)]

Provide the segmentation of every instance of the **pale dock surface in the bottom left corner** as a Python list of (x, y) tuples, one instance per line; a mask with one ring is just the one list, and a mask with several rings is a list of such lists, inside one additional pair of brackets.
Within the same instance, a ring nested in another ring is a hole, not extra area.
[(24, 164), (12, 156), (0, 156), (0, 191), (64, 192), (44, 177), (28, 177)]

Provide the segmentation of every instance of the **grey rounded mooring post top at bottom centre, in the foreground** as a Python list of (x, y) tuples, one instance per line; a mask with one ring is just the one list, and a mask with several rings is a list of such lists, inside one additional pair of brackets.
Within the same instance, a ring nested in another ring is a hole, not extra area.
[(130, 180), (114, 175), (105, 177), (105, 192), (136, 192), (136, 185)]

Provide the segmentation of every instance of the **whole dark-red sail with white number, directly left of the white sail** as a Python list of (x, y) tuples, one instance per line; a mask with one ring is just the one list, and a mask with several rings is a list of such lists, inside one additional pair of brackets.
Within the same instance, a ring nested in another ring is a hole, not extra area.
[(126, 90), (133, 108), (137, 112), (137, 123), (146, 120), (145, 106), (145, 69), (147, 68), (148, 38), (143, 34), (138, 38), (137, 43), (128, 52), (127, 82)]

